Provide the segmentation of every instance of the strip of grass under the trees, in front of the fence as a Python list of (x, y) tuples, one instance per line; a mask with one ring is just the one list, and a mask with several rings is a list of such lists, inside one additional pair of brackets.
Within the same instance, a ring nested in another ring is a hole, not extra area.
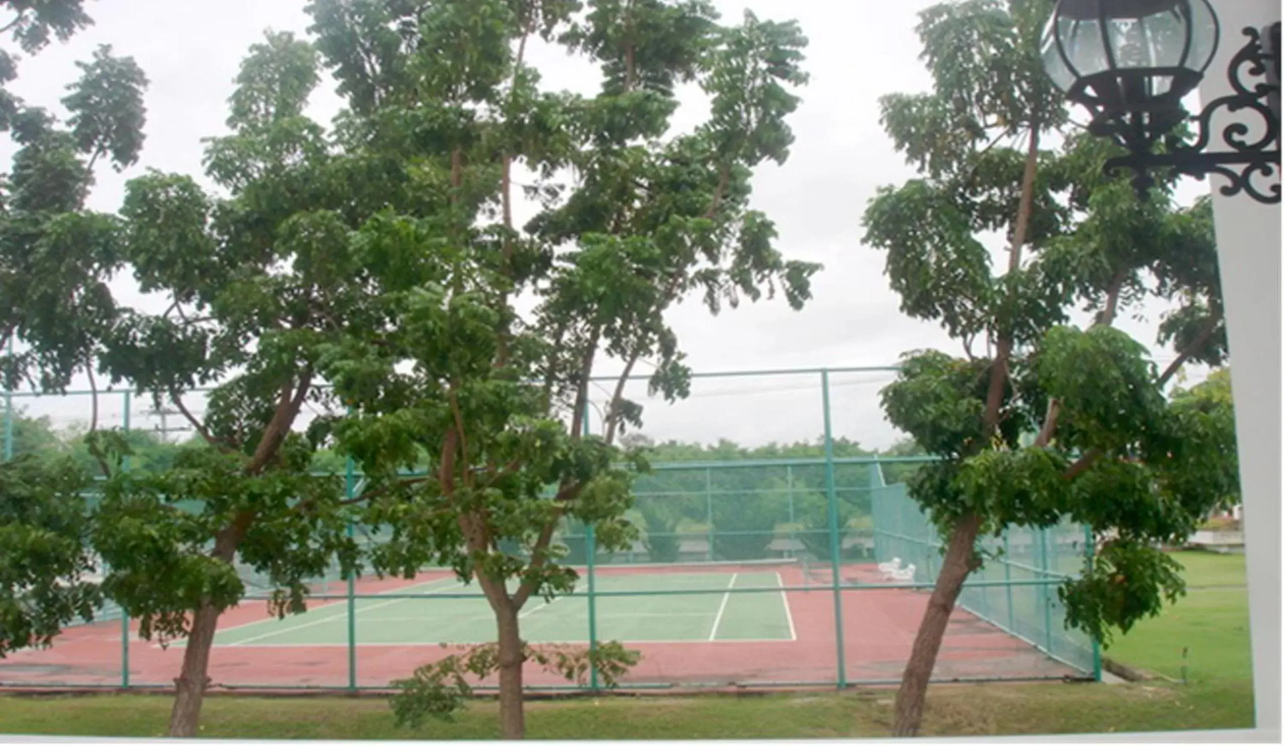
[[(1236, 687), (967, 684), (933, 687), (924, 736), (1099, 733), (1252, 727)], [(847, 693), (601, 697), (530, 702), (533, 738), (851, 738), (886, 736), (890, 690)], [(155, 695), (0, 697), (0, 732), (162, 736), (169, 698)], [(498, 738), (496, 705), (453, 723), (393, 725), (381, 700), (209, 697), (202, 736), (221, 738)]]

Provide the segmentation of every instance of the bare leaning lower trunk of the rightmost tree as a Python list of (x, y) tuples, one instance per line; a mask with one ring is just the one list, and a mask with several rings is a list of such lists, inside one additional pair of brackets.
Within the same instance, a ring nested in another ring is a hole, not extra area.
[(927, 697), (927, 682), (936, 668), (936, 655), (941, 650), (945, 627), (949, 624), (954, 602), (963, 591), (963, 582), (972, 573), (972, 550), (981, 530), (980, 516), (967, 516), (954, 528), (949, 550), (936, 577), (936, 588), (927, 601), (927, 611), (918, 625), (914, 647), (905, 664), (905, 674), (896, 692), (895, 722), (891, 734), (896, 737), (917, 736), (923, 722), (923, 701)]

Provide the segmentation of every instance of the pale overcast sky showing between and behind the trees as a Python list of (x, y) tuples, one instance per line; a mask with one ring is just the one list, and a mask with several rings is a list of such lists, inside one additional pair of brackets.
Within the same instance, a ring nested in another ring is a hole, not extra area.
[[(718, 0), (724, 21), (736, 22), (745, 8), (760, 18), (797, 19), (810, 39), (806, 69), (811, 82), (791, 119), (796, 143), (783, 167), (760, 168), (754, 207), (779, 229), (779, 248), (790, 258), (820, 262), (814, 300), (801, 312), (783, 300), (745, 304), (711, 317), (697, 302), (670, 312), (690, 365), (697, 371), (796, 367), (887, 366), (910, 349), (936, 347), (958, 354), (959, 347), (936, 325), (898, 311), (899, 298), (883, 275), (885, 256), (860, 243), (860, 216), (874, 190), (904, 181), (913, 171), (894, 152), (878, 123), (878, 98), (894, 91), (919, 91), (928, 85), (914, 35), (917, 13), (931, 3), (900, 0)], [(60, 110), (64, 86), (77, 77), (74, 60), (87, 59), (100, 44), (132, 55), (149, 76), (146, 146), (137, 166), (125, 173), (99, 171), (90, 207), (116, 211), (123, 184), (146, 168), (199, 176), (202, 137), (225, 131), (226, 99), (248, 48), (263, 31), (306, 35), (303, 0), (90, 0), (95, 26), (65, 45), (51, 45), (21, 62), (13, 90), (30, 103)], [(544, 83), (591, 92), (597, 71), (555, 49), (537, 49), (530, 62)], [(313, 96), (312, 114), (329, 123), (339, 99), (327, 80)], [(678, 123), (700, 116), (698, 96)], [(5, 143), (0, 155), (8, 160)], [(1192, 184), (1183, 202), (1206, 190)], [(118, 282), (122, 298), (137, 297), (130, 282)], [(1161, 307), (1147, 318), (1122, 318), (1118, 326), (1150, 344)], [(1156, 349), (1165, 365), (1174, 354)], [(611, 372), (619, 363), (603, 361)], [(645, 372), (645, 371), (641, 371)], [(898, 434), (878, 411), (877, 390), (891, 374), (835, 374), (835, 435), (885, 447)], [(642, 394), (643, 386), (638, 386)], [(597, 398), (605, 399), (602, 390)], [(81, 411), (87, 408), (80, 407)], [(24, 402), (31, 413), (50, 413), (69, 424), (77, 407), (50, 399)], [(135, 426), (144, 402), (134, 410)], [(107, 403), (107, 424), (119, 424)], [(114, 412), (114, 413), (113, 413)], [(770, 376), (698, 380), (688, 402), (648, 402), (645, 431), (655, 438), (713, 442), (720, 437), (742, 443), (810, 439), (823, 428), (819, 376)], [(172, 424), (172, 422), (171, 422)], [(597, 428), (596, 422), (593, 428)]]

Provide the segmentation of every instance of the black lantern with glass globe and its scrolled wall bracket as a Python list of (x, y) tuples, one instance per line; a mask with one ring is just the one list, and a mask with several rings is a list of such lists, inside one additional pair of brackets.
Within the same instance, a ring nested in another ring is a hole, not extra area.
[[(1217, 172), (1231, 184), (1224, 194), (1245, 191), (1258, 202), (1278, 203), (1279, 184), (1266, 191), (1254, 173), (1279, 172), (1279, 33), (1245, 28), (1248, 42), (1235, 54), (1228, 74), (1234, 92), (1211, 101), (1194, 117), (1198, 139), (1183, 144), (1172, 136), (1189, 118), (1181, 99), (1198, 87), (1217, 53), (1221, 28), (1208, 0), (1059, 0), (1043, 39), (1044, 67), (1067, 98), (1091, 113), (1089, 132), (1109, 137), (1129, 154), (1113, 158), (1107, 172), (1129, 168), (1144, 196), (1154, 168), (1203, 177)], [(1261, 78), (1249, 85), (1242, 76)], [(1219, 108), (1253, 109), (1265, 132), (1245, 140), (1249, 127), (1231, 123), (1222, 131), (1230, 148), (1204, 153), (1210, 119)], [(1156, 144), (1162, 153), (1154, 153)]]

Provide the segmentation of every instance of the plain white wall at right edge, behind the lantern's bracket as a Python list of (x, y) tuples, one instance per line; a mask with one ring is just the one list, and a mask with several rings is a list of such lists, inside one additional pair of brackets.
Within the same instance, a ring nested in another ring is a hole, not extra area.
[[(1199, 98), (1208, 103), (1231, 92), (1228, 63), (1247, 37), (1243, 28), (1261, 28), (1280, 19), (1279, 0), (1212, 0), (1221, 22), (1221, 41)], [(1254, 81), (1256, 82), (1256, 81)], [(1256, 121), (1254, 121), (1256, 119)], [(1219, 112), (1212, 119), (1220, 144), (1226, 123), (1242, 121), (1262, 130), (1260, 117)], [(1225, 196), (1229, 181), (1210, 178), (1226, 303), (1230, 375), (1235, 397), (1235, 434), (1244, 496), (1244, 543), (1248, 555), (1249, 627), (1253, 646), (1253, 690), (1257, 727), (1280, 731), (1280, 205), (1261, 204), (1245, 194)], [(1257, 178), (1257, 184), (1279, 182)]]

